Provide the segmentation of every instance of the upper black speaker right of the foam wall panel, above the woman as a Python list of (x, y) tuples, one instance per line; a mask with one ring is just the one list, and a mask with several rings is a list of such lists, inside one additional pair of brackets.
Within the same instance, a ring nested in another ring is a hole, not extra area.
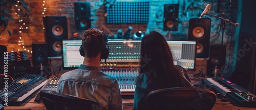
[(164, 4), (164, 31), (178, 31), (179, 4)]

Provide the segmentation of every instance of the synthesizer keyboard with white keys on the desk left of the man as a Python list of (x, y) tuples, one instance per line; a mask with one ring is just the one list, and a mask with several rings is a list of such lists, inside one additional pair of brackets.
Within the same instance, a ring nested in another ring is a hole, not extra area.
[(0, 100), (8, 95), (8, 106), (19, 106), (35, 94), (47, 82), (40, 75), (25, 74), (8, 84), (8, 92), (0, 90)]

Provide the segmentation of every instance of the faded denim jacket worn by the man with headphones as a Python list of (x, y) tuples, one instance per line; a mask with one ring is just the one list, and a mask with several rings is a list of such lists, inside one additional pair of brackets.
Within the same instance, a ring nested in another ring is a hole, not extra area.
[(99, 102), (106, 109), (122, 109), (122, 98), (114, 76), (99, 67), (81, 64), (79, 69), (61, 75), (57, 91)]

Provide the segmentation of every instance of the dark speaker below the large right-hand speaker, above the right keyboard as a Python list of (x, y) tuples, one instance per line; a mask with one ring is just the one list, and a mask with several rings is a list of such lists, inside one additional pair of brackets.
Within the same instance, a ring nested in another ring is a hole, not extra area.
[[(207, 61), (207, 76), (214, 77), (215, 69), (219, 70), (216, 76), (221, 77), (223, 70), (226, 67), (223, 67), (226, 62), (226, 45), (223, 45), (221, 48), (220, 44), (214, 44), (210, 46), (210, 56)], [(224, 70), (225, 71), (225, 70)]]

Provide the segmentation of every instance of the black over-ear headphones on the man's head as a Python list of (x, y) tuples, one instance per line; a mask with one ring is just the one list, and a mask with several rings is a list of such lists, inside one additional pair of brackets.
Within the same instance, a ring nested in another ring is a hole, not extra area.
[[(106, 36), (106, 34), (104, 32), (102, 32), (102, 34), (103, 34), (103, 42), (106, 42), (106, 46), (101, 51), (100, 58), (101, 59), (108, 59), (109, 54), (110, 54), (110, 49), (109, 49), (109, 45), (108, 45), (108, 38), (107, 38), (107, 36)], [(82, 45), (79, 48), (79, 53), (80, 53), (81, 56), (84, 57), (84, 51), (83, 51)]]

